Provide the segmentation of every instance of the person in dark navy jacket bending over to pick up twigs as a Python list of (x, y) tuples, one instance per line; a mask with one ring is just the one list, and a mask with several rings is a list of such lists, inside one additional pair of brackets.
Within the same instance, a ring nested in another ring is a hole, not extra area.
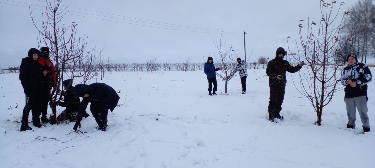
[(79, 97), (83, 97), (83, 99), (78, 108), (77, 121), (73, 129), (77, 130), (78, 126), (81, 128), (82, 117), (87, 105), (91, 103), (90, 111), (96, 123), (98, 123), (98, 130), (105, 131), (108, 126), (108, 109), (112, 112), (120, 99), (117, 92), (105, 83), (78, 84), (75, 85), (74, 91)]

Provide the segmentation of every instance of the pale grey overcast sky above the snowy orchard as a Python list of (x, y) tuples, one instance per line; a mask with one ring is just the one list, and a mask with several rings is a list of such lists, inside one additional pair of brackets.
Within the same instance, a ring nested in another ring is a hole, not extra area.
[[(327, 1), (331, 3), (332, 1)], [(343, 2), (338, 0), (336, 6)], [(341, 13), (357, 0), (344, 1)], [(19, 66), (30, 48), (38, 48), (39, 33), (31, 21), (28, 4), (41, 27), (43, 0), (0, 0), (0, 68)], [(273, 58), (278, 47), (292, 52), (299, 39), (299, 20), (320, 20), (320, 0), (63, 0), (67, 7), (60, 24), (78, 24), (78, 35), (88, 37), (87, 49), (104, 47), (112, 63), (205, 62), (222, 39), (244, 59)], [(341, 14), (340, 14), (341, 16)], [(305, 28), (305, 27), (304, 27)], [(305, 29), (306, 30), (306, 29)], [(106, 59), (107, 61), (108, 59)]]

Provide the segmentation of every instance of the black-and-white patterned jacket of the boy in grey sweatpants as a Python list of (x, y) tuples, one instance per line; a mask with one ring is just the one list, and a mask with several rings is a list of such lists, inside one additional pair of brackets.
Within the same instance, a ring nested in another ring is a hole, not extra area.
[[(356, 87), (348, 84), (348, 79), (356, 82)], [(342, 71), (341, 84), (346, 86), (345, 98), (353, 98), (359, 96), (367, 96), (367, 83), (371, 82), (372, 76), (369, 67), (363, 63), (355, 63), (348, 65)]]

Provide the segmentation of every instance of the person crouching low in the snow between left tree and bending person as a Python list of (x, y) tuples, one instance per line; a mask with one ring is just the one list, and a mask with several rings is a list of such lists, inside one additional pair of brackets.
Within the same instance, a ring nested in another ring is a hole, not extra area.
[[(64, 101), (58, 102), (57, 105), (66, 108), (57, 116), (57, 120), (60, 122), (68, 119), (70, 122), (75, 122), (77, 120), (78, 108), (80, 107), (81, 101), (80, 97), (74, 93), (74, 86), (72, 83), (73, 81), (71, 79), (66, 79), (63, 81), (63, 88), (65, 89), (65, 92), (62, 92), (61, 95), (64, 97)], [(90, 115), (85, 111), (84, 117), (88, 116)]]

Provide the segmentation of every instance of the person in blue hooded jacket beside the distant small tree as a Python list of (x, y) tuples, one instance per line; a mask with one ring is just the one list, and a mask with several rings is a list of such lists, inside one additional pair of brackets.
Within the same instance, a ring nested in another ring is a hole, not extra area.
[[(204, 73), (207, 75), (208, 80), (208, 95), (216, 95), (217, 91), (217, 81), (216, 81), (216, 71), (222, 70), (222, 67), (215, 68), (211, 56), (208, 56), (207, 62), (204, 63)], [(212, 91), (213, 83), (213, 92)]]

